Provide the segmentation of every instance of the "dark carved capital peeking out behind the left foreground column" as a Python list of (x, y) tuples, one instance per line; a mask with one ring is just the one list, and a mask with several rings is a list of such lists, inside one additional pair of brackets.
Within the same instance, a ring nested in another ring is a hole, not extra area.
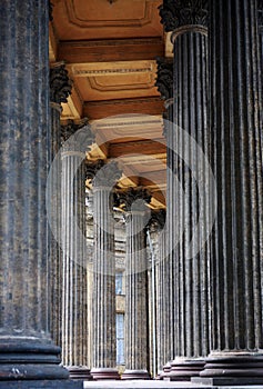
[(50, 101), (61, 104), (71, 94), (72, 81), (64, 63), (50, 69)]

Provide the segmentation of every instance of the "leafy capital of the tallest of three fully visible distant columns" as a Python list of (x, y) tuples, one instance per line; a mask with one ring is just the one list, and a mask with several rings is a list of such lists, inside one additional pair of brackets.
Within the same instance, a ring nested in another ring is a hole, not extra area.
[(87, 118), (83, 118), (78, 123), (73, 120), (68, 120), (67, 124), (61, 126), (61, 144), (63, 146), (63, 152), (84, 153), (94, 139), (95, 136), (91, 131)]

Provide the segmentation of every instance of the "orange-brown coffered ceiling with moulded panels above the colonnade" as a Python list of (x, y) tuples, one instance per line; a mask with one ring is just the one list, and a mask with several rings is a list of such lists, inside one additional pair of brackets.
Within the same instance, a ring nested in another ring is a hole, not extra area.
[(50, 62), (64, 61), (72, 93), (61, 121), (89, 118), (97, 142), (89, 159), (117, 159), (119, 188), (143, 186), (165, 207), (163, 101), (156, 57), (170, 50), (162, 0), (52, 0)]

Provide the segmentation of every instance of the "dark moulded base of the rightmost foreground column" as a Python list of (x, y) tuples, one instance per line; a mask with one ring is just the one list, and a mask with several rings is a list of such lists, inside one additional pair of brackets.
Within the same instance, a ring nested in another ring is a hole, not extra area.
[(192, 381), (211, 386), (263, 385), (263, 353), (213, 352), (205, 360), (200, 379)]

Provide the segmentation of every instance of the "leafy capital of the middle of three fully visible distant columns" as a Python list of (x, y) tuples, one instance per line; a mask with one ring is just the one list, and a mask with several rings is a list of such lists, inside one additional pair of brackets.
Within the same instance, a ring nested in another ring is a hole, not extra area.
[(117, 161), (105, 163), (99, 160), (91, 167), (87, 163), (87, 178), (92, 179), (93, 190), (114, 187), (121, 174), (122, 171), (119, 169)]

